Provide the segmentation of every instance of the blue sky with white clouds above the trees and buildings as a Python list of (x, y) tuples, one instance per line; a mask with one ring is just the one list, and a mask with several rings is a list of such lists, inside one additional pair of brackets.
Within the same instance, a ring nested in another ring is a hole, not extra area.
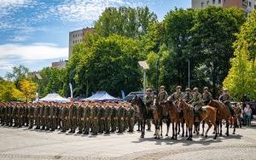
[(0, 0), (0, 76), (13, 66), (38, 71), (67, 60), (68, 32), (93, 26), (107, 7), (146, 5), (163, 20), (191, 0)]

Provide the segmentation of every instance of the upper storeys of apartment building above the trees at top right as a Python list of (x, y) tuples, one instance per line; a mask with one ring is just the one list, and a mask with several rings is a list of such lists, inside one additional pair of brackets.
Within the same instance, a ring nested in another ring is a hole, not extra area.
[(256, 0), (192, 0), (192, 9), (204, 9), (207, 6), (237, 7), (249, 14), (256, 9)]

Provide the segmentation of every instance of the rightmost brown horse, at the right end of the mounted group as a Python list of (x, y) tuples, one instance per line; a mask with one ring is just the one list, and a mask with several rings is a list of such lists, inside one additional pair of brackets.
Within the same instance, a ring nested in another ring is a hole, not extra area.
[[(224, 119), (226, 121), (226, 135), (230, 135), (230, 121), (232, 120), (232, 115), (230, 113), (230, 110), (227, 106), (224, 105), (224, 103), (218, 101), (218, 100), (212, 100), (209, 103), (209, 106), (212, 106), (214, 108), (217, 108), (217, 130), (219, 135), (222, 135), (222, 120)], [(217, 131), (216, 130), (216, 131)], [(233, 134), (236, 132), (236, 126), (234, 126)]]

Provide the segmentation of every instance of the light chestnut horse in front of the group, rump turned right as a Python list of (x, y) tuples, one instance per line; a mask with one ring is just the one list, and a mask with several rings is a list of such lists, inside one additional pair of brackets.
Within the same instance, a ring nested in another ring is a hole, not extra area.
[[(194, 122), (194, 114), (191, 113), (192, 107), (189, 106), (184, 100), (178, 100), (178, 108), (181, 108), (183, 110), (183, 116), (185, 119), (185, 122), (187, 126), (189, 127), (189, 138), (187, 140), (192, 140), (192, 129)], [(205, 134), (207, 138), (207, 134), (209, 129), (211, 129), (212, 125), (214, 126), (214, 129), (216, 130), (216, 109), (212, 106), (203, 106), (202, 109), (206, 110), (201, 113), (201, 121), (205, 121), (208, 124), (208, 129)], [(216, 140), (217, 133), (215, 132), (215, 136), (213, 137), (213, 140)]]

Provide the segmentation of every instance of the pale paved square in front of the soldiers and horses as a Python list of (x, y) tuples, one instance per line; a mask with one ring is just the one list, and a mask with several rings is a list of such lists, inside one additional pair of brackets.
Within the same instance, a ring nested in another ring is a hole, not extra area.
[(140, 139), (139, 133), (87, 136), (0, 127), (0, 159), (256, 159), (256, 128), (237, 129), (218, 140), (210, 133), (187, 141), (154, 140), (153, 132)]

